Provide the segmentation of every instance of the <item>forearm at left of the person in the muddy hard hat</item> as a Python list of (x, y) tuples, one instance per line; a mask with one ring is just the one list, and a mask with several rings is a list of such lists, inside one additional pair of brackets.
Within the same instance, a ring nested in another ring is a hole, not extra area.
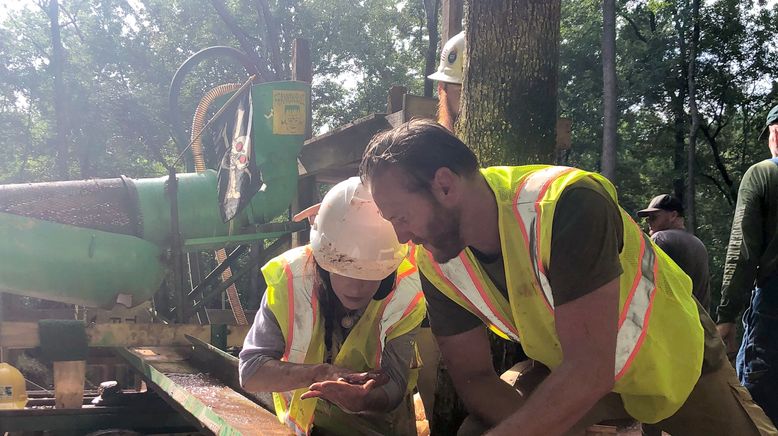
[(270, 360), (243, 380), (243, 388), (251, 392), (286, 392), (308, 387), (325, 379), (328, 366)]

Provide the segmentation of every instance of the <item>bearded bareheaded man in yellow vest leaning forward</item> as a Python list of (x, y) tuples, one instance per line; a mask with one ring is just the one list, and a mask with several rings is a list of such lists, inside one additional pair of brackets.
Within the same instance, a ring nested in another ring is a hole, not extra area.
[[(691, 280), (604, 177), (479, 169), (431, 121), (377, 135), (360, 174), (398, 239), (419, 244), (432, 330), (471, 412), (460, 434), (558, 435), (630, 417), (673, 436), (776, 434)], [(538, 362), (516, 374), (520, 390), (493, 370), (486, 327)]]

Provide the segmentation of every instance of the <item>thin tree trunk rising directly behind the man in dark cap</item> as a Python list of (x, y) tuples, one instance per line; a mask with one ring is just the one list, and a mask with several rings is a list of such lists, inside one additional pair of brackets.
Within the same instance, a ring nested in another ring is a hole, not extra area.
[(697, 88), (695, 67), (697, 62), (697, 42), (700, 39), (700, 0), (692, 0), (692, 37), (689, 42), (689, 114), (691, 126), (689, 127), (689, 149), (686, 156), (686, 229), (694, 234), (697, 228), (694, 190), (695, 190), (695, 165), (697, 162), (697, 130), (700, 128), (700, 116), (697, 112)]

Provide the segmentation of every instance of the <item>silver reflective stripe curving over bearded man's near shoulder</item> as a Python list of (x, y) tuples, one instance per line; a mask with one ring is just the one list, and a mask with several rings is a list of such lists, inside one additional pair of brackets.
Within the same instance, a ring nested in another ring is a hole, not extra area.
[(548, 306), (554, 307), (554, 295), (551, 292), (551, 284), (548, 282), (545, 271), (541, 270), (542, 258), (540, 256), (540, 236), (538, 232), (538, 213), (537, 202), (544, 195), (543, 188), (548, 183), (561, 176), (562, 174), (573, 171), (573, 168), (553, 166), (543, 168), (532, 174), (522, 182), (519, 194), (514, 201), (514, 213), (520, 217), (520, 224), (523, 227), (524, 235), (529, 242), (530, 259), (532, 260), (532, 270), (535, 272), (535, 280), (543, 290)]

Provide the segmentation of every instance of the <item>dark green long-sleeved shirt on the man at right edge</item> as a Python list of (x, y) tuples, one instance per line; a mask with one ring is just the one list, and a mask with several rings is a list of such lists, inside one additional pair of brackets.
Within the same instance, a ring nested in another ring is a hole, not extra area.
[(751, 290), (778, 273), (778, 164), (765, 160), (743, 175), (721, 284), (719, 323), (734, 322)]

